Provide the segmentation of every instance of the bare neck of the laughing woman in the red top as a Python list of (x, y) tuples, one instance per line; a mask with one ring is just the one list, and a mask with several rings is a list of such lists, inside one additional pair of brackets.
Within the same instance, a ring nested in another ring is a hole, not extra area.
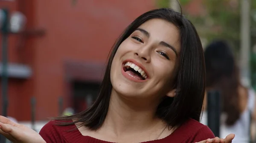
[(112, 91), (108, 114), (100, 130), (116, 137), (163, 130), (165, 123), (155, 117), (156, 108), (157, 103), (125, 99)]

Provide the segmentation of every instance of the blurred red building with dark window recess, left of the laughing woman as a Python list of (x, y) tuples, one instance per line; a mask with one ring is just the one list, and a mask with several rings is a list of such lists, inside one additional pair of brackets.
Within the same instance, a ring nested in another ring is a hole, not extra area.
[(25, 121), (32, 117), (32, 97), (36, 120), (58, 116), (67, 107), (87, 108), (116, 38), (154, 9), (155, 1), (2, 0), (0, 8), (27, 18), (25, 31), (9, 34), (8, 42), (8, 115)]

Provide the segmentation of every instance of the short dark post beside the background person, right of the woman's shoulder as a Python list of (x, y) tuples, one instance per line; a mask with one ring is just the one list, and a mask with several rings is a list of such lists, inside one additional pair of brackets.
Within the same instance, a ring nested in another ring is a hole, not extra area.
[(221, 98), (218, 91), (207, 93), (207, 125), (215, 137), (220, 135)]

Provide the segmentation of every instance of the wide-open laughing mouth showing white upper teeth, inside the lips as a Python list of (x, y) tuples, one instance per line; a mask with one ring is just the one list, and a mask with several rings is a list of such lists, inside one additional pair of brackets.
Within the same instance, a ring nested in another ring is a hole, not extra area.
[(123, 70), (137, 80), (146, 80), (148, 78), (148, 75), (145, 73), (145, 71), (132, 62), (124, 63)]

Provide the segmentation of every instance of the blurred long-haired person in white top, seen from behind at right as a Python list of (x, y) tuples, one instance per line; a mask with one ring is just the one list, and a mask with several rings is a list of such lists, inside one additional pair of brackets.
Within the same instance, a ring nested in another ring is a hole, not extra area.
[[(239, 68), (230, 46), (222, 40), (210, 43), (205, 51), (206, 91), (221, 94), (222, 135), (236, 134), (232, 143), (249, 143), (251, 120), (256, 119), (255, 93), (241, 85)], [(206, 95), (206, 94), (205, 94)], [(207, 110), (205, 96), (204, 110)]]

